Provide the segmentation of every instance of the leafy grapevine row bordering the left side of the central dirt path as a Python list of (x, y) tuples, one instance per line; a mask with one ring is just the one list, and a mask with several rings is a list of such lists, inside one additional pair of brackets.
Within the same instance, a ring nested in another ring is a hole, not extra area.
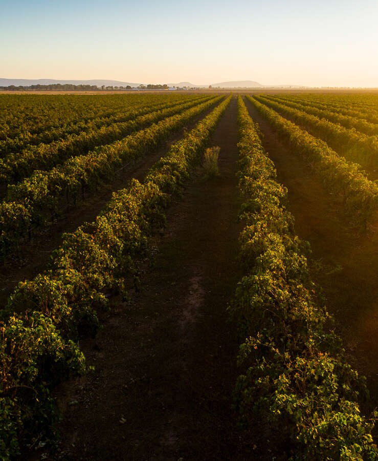
[(131, 180), (96, 221), (66, 234), (48, 271), (19, 283), (3, 312), (5, 319), (11, 315), (0, 326), (0, 457), (18, 454), (25, 427), (39, 431), (54, 420), (50, 389), (69, 374), (85, 371), (75, 343), (80, 328), (97, 326), (107, 294), (126, 296), (125, 285), (136, 277), (147, 237), (164, 224), (171, 194), (188, 179), (229, 102), (230, 97), (173, 144), (143, 184)]

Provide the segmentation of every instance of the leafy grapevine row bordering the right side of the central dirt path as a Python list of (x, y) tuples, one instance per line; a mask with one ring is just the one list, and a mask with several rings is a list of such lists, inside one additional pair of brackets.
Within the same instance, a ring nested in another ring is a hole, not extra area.
[(364, 379), (343, 357), (339, 338), (310, 280), (308, 248), (294, 234), (286, 189), (276, 181), (239, 97), (242, 266), (231, 315), (240, 326), (236, 407), (244, 423), (268, 418), (290, 441), (291, 459), (376, 459), (373, 423), (360, 412)]

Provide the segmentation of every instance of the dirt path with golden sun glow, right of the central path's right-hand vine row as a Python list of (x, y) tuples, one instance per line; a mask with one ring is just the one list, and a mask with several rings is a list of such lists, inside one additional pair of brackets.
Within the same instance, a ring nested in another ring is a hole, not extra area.
[[(296, 233), (312, 247), (313, 279), (324, 290), (352, 365), (368, 377), (372, 405), (378, 395), (378, 229), (359, 234), (309, 167), (246, 100), (264, 134), (278, 180), (288, 188)], [(317, 269), (317, 270), (316, 270)]]

